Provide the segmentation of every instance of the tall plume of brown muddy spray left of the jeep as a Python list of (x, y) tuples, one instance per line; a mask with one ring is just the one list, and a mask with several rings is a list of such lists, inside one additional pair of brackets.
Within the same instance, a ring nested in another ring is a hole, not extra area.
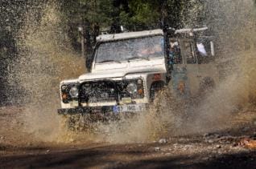
[(59, 84), (64, 78), (76, 78), (85, 72), (84, 59), (70, 47), (64, 20), (56, 3), (43, 5), (42, 18), (31, 7), (17, 37), (19, 58), (12, 64), (10, 83), (23, 95), (15, 102), (26, 103), (20, 114), (24, 131), (35, 139), (52, 141), (60, 137)]

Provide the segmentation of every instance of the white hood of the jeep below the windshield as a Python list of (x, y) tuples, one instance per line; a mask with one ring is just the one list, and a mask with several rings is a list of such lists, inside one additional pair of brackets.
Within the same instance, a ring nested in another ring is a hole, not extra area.
[(136, 62), (136, 64), (133, 64), (135, 62), (105, 64), (101, 65), (97, 70), (93, 70), (92, 73), (82, 74), (79, 80), (89, 81), (104, 78), (123, 78), (127, 74), (166, 72), (164, 59), (159, 60), (160, 61), (147, 61), (148, 63), (146, 65), (139, 64), (139, 62)]

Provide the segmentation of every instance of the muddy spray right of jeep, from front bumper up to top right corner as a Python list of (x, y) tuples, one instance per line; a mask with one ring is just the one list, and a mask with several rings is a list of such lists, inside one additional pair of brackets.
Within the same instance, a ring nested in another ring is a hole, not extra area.
[(254, 2), (205, 1), (205, 10), (208, 14), (204, 22), (217, 37), (216, 62), (220, 74), (225, 74), (220, 83), (212, 92), (197, 98), (192, 107), (191, 103), (175, 99), (171, 92), (160, 95), (151, 110), (136, 119), (103, 126), (110, 142), (148, 142), (161, 137), (225, 130), (235, 113), (246, 109), (255, 97)]

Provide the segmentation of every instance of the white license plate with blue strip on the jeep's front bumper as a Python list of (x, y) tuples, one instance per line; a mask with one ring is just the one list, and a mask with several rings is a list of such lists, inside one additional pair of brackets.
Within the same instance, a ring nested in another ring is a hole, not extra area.
[(135, 111), (143, 111), (143, 110), (145, 110), (145, 105), (142, 105), (142, 104), (129, 104), (129, 105), (123, 105), (123, 106), (115, 106), (113, 108), (113, 111), (115, 113), (135, 112)]

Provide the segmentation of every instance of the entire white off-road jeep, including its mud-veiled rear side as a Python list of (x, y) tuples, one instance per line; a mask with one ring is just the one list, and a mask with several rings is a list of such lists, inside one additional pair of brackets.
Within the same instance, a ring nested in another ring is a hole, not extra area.
[[(218, 82), (213, 41), (184, 29), (147, 30), (97, 37), (90, 73), (60, 82), (60, 115), (101, 117), (146, 110), (170, 81), (176, 96), (190, 97)], [(205, 49), (204, 49), (205, 46)], [(205, 81), (207, 79), (207, 82)], [(206, 87), (206, 86), (207, 87)], [(174, 96), (175, 97), (175, 96)]]

